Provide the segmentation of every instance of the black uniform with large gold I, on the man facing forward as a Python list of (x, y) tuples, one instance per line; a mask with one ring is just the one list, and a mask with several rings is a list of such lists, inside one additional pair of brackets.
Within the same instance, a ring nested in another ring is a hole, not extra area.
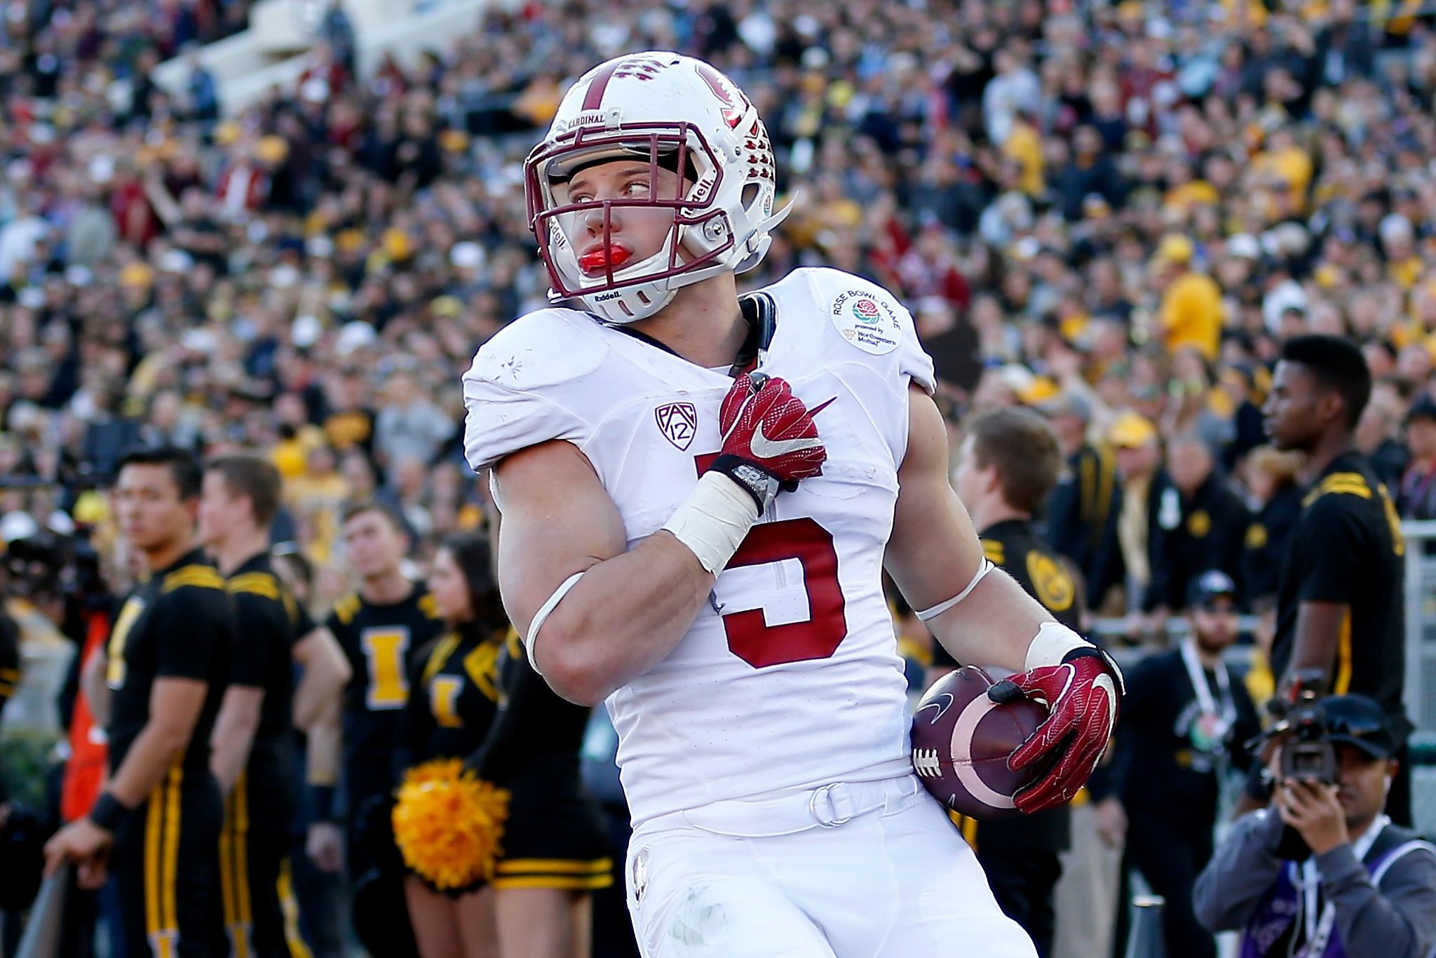
[[(349, 873), (362, 876), (375, 862), (359, 840), (360, 817), (393, 789), (399, 720), (409, 701), (414, 659), (444, 632), (434, 599), (419, 585), (401, 602), (373, 605), (350, 593), (335, 603), (325, 625), (353, 669), (345, 688), (343, 789), (349, 813)], [(368, 807), (366, 807), (368, 806)]]

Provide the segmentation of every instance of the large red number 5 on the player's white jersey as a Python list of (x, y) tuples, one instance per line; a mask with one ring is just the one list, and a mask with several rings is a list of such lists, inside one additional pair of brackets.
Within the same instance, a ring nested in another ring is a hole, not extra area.
[[(699, 474), (715, 457), (717, 452), (698, 457)], [(728, 649), (752, 668), (826, 659), (847, 638), (847, 603), (837, 582), (833, 533), (814, 520), (787, 518), (754, 526), (727, 567), (768, 566), (793, 559), (803, 566), (807, 620), (768, 625), (763, 609), (721, 613)]]

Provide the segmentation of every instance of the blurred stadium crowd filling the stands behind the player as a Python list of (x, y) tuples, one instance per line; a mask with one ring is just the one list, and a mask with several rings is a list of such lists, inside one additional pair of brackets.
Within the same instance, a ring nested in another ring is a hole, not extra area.
[(1358, 444), (1436, 518), (1420, 3), (531, 0), (368, 75), (335, 7), (297, 85), (241, 112), (198, 60), (155, 82), (246, 7), (3, 7), (7, 541), (79, 533), (108, 560), (96, 490), (161, 442), (273, 460), (316, 616), (353, 587), (346, 506), (395, 508), (416, 572), (481, 529), (460, 375), (547, 290), (523, 157), (569, 82), (643, 49), (714, 62), (765, 118), (793, 214), (745, 286), (870, 277), (916, 317), (955, 437), (992, 406), (1050, 418), (1071, 468), (1048, 540), (1127, 639), (1209, 569), (1269, 610), (1301, 497), (1259, 408), (1294, 335), (1361, 345)]

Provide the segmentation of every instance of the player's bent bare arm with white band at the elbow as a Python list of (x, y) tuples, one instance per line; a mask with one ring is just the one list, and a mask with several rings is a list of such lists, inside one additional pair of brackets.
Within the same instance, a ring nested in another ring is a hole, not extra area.
[[(543, 442), (498, 464), (504, 520), (498, 579), (530, 656), (556, 692), (592, 705), (658, 665), (692, 626), (714, 576), (671, 533), (628, 549), (623, 520), (570, 442)], [(530, 633), (540, 608), (583, 573)]]

